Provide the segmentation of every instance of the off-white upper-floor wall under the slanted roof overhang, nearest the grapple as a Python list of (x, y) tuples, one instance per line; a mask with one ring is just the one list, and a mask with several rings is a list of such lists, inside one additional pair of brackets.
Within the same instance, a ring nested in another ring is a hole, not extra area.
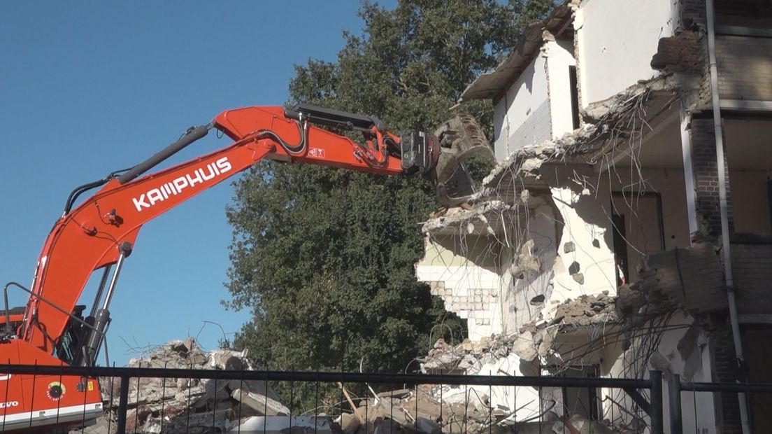
[(551, 137), (547, 96), (547, 58), (540, 55), (493, 107), (496, 159)]

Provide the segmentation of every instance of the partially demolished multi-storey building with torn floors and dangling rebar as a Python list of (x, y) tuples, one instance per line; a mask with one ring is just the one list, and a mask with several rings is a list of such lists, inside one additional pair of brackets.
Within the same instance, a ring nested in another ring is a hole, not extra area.
[[(769, 2), (568, 0), (476, 99), (493, 100), (498, 164), (471, 207), (425, 222), (417, 275), (470, 341), (499, 344), (425, 370), (772, 381)], [(491, 398), (517, 419), (645, 424), (621, 391)], [(772, 422), (764, 395), (682, 401), (684, 432)]]

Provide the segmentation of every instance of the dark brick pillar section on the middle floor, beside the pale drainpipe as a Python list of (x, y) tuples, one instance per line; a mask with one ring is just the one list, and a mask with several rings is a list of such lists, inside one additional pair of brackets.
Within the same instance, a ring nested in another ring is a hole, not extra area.
[[(718, 164), (716, 164), (716, 135), (713, 118), (693, 119), (692, 166), (697, 195), (697, 210), (704, 220), (705, 235), (720, 236), (721, 211), (719, 200)], [(726, 161), (726, 142), (724, 142), (724, 174), (726, 175), (726, 202), (729, 205), (729, 229), (734, 230), (732, 216), (732, 192), (729, 179), (729, 164)]]

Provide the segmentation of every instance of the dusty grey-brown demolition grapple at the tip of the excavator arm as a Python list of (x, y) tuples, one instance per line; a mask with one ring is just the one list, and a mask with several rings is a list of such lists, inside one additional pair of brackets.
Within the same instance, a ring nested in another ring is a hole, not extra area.
[(432, 178), (441, 205), (455, 206), (467, 202), (475, 193), (466, 162), (475, 159), (496, 164), (496, 157), (485, 134), (471, 114), (455, 114), (436, 130), (439, 156)]

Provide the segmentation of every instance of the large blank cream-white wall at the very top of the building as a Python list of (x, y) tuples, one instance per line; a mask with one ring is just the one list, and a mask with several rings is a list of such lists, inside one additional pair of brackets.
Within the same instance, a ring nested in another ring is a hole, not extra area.
[(577, 30), (581, 104), (605, 100), (659, 73), (649, 63), (672, 36), (672, 0), (584, 0)]

